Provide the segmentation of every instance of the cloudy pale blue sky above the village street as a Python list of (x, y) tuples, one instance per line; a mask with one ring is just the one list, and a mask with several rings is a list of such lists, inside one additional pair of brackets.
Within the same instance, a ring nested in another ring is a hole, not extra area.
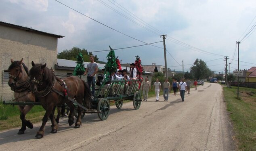
[(201, 59), (225, 73), (227, 56), (232, 73), (237, 42), (239, 69), (256, 66), (255, 0), (1, 0), (0, 21), (65, 36), (58, 52), (84, 48), (105, 62), (111, 46), (122, 63), (139, 56), (142, 65), (165, 66), (166, 35), (172, 71)]

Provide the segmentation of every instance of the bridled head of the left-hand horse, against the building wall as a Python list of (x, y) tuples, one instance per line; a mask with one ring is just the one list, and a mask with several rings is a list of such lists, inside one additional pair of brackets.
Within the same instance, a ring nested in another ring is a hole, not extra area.
[(27, 73), (23, 72), (24, 63), (22, 63), (22, 61), (23, 58), (21, 59), (21, 61), (13, 61), (13, 59), (10, 59), (10, 62), (12, 64), (8, 68), (8, 71), (10, 72), (8, 85), (12, 90), (16, 87), (17, 81), (21, 80), (23, 76), (26, 76), (25, 78), (27, 78), (28, 76)]

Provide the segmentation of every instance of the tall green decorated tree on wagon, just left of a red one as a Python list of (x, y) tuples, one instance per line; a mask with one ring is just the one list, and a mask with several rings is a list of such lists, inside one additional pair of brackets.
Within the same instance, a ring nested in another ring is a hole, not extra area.
[(107, 55), (107, 64), (105, 65), (105, 71), (107, 71), (109, 74), (111, 72), (116, 72), (117, 70), (117, 64), (116, 64), (116, 58), (115, 58), (115, 51), (109, 46), (110, 51)]

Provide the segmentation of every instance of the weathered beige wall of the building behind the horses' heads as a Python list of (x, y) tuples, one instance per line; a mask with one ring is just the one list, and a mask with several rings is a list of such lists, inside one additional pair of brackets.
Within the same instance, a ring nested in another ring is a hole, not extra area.
[(23, 58), (23, 63), (29, 69), (31, 61), (54, 67), (57, 63), (57, 44), (58, 38), (55, 36), (0, 25), (0, 96), (3, 101), (13, 98), (13, 91), (4, 75), (4, 70), (11, 64), (10, 59), (17, 61)]

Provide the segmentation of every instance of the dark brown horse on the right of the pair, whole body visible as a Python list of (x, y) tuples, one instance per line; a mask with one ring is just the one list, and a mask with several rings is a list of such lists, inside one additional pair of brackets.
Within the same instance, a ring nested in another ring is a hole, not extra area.
[[(46, 110), (42, 126), (38, 130), (36, 134), (36, 138), (42, 138), (44, 136), (44, 126), (52, 114), (52, 110), (55, 106), (61, 106), (64, 103), (68, 105), (70, 108), (69, 112), (69, 126), (71, 126), (74, 122), (74, 109), (75, 106), (73, 105), (72, 101), (69, 101), (68, 98), (75, 98), (76, 101), (84, 104), (86, 107), (90, 107), (91, 101), (91, 92), (88, 85), (78, 77), (71, 76), (67, 78), (63, 78), (61, 81), (59, 78), (55, 76), (55, 74), (46, 67), (46, 63), (42, 64), (35, 64), (32, 61), (32, 68), (29, 71), (31, 85), (31, 91), (38, 97), (39, 101), (42, 103), (42, 107)], [(79, 128), (81, 123), (81, 107), (78, 106), (78, 118), (76, 120), (75, 128)], [(58, 130), (58, 124), (53, 118), (52, 121), (52, 130), (51, 133), (56, 133)]]

